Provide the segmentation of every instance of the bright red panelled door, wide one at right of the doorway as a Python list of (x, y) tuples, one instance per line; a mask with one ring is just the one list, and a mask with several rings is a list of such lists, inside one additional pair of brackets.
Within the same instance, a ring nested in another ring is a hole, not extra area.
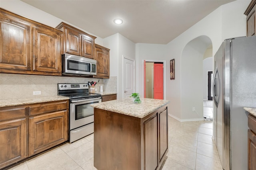
[(163, 64), (154, 63), (154, 99), (164, 99)]

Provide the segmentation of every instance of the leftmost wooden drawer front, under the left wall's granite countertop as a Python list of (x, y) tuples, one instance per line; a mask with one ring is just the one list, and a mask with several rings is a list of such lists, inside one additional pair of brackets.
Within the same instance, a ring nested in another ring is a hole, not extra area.
[(16, 119), (19, 117), (26, 116), (26, 107), (25, 106), (11, 106), (11, 107), (1, 107), (0, 108), (0, 121)]

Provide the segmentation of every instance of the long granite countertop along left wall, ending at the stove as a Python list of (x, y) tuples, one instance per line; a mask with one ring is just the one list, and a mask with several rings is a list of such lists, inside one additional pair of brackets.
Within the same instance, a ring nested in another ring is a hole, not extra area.
[(69, 100), (69, 97), (65, 96), (46, 96), (39, 98), (21, 98), (21, 99), (8, 99), (8, 100), (0, 100), (0, 107), (6, 106), (17, 106), (23, 104), (34, 104), (34, 103), (42, 103), (42, 102), (53, 102), (59, 100)]

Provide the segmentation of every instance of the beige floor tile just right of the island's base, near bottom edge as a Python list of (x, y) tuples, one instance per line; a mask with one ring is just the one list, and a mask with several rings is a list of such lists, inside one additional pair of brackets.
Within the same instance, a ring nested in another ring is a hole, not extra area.
[(176, 146), (170, 146), (167, 153), (168, 159), (190, 169), (195, 168), (196, 152)]

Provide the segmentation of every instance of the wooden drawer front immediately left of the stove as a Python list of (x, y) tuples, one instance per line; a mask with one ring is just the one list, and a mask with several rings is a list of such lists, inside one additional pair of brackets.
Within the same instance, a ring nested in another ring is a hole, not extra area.
[(53, 111), (65, 110), (68, 108), (68, 100), (58, 102), (47, 102), (28, 106), (28, 115), (38, 115)]

